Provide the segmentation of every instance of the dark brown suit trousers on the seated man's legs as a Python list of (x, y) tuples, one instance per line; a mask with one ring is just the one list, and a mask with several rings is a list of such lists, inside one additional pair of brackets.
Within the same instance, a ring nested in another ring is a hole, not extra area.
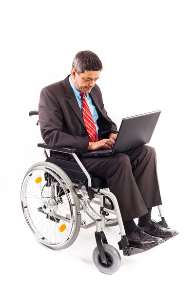
[(92, 177), (104, 178), (117, 197), (122, 220), (138, 218), (161, 205), (156, 152), (139, 146), (109, 157), (80, 158)]

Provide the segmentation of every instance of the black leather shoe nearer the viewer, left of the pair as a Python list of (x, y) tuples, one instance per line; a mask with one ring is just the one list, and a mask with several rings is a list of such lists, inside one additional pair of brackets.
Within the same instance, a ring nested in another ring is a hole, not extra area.
[(137, 227), (130, 235), (127, 235), (129, 246), (140, 248), (140, 249), (149, 249), (158, 244), (165, 242), (161, 238), (153, 237), (146, 234), (143, 230)]

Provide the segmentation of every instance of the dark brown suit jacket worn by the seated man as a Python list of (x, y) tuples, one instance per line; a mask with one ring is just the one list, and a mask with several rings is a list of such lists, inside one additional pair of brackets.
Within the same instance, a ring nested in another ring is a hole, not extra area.
[[(89, 138), (84, 125), (77, 98), (69, 83), (70, 75), (63, 81), (50, 84), (40, 92), (39, 124), (44, 142), (49, 146), (72, 146), (77, 154), (85, 153), (89, 146)], [(97, 84), (92, 88), (92, 102), (98, 111), (97, 124), (100, 139), (108, 138), (109, 133), (117, 131), (116, 124), (108, 117)], [(53, 152), (53, 157), (70, 160), (72, 155)]]

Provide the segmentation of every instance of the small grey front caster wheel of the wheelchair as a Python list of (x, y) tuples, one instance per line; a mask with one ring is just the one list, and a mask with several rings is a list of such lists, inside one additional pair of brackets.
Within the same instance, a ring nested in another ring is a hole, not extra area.
[(107, 264), (101, 262), (101, 258), (98, 251), (98, 246), (93, 251), (93, 261), (95, 266), (100, 272), (112, 274), (117, 272), (121, 265), (120, 254), (115, 247), (110, 244), (102, 244), (105, 252)]

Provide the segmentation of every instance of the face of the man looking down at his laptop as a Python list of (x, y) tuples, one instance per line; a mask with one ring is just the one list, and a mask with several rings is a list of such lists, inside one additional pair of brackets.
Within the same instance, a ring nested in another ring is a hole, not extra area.
[(86, 71), (84, 73), (77, 73), (77, 71), (73, 68), (71, 70), (71, 78), (75, 86), (81, 92), (89, 94), (91, 89), (96, 84), (99, 78), (99, 71)]

